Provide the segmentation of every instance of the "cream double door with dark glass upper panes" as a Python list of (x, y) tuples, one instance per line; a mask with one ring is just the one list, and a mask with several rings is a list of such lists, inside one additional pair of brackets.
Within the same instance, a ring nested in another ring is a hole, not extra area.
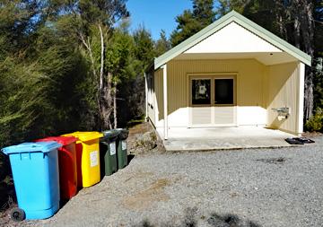
[(189, 77), (189, 127), (237, 125), (236, 75)]

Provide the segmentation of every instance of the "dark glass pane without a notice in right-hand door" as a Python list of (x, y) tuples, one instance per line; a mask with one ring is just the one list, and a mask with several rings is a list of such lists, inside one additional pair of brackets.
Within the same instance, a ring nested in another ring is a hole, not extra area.
[(233, 79), (216, 79), (215, 104), (233, 104)]

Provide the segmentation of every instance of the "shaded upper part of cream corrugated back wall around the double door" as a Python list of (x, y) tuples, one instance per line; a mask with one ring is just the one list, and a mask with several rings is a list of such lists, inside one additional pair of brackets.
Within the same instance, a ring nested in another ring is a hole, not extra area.
[(264, 65), (254, 59), (170, 61), (170, 111), (188, 105), (188, 74), (238, 73), (239, 106), (261, 106)]

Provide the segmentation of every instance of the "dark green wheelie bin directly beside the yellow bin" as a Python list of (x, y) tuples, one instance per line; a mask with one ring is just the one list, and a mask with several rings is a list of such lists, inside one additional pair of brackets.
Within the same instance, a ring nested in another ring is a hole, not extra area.
[(118, 170), (117, 164), (117, 145), (119, 132), (117, 130), (108, 130), (102, 132), (100, 138), (100, 173), (101, 179), (109, 176)]

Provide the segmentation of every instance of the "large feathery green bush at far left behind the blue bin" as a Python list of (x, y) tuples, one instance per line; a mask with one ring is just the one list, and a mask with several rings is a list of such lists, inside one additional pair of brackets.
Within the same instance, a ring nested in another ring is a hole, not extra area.
[[(89, 70), (74, 37), (60, 29), (62, 22), (35, 22), (41, 13), (39, 5), (35, 12), (36, 1), (25, 8), (19, 2), (0, 7), (13, 13), (12, 20), (1, 23), (6, 32), (0, 34), (0, 146), (91, 129)], [(89, 118), (82, 121), (85, 115)]]

